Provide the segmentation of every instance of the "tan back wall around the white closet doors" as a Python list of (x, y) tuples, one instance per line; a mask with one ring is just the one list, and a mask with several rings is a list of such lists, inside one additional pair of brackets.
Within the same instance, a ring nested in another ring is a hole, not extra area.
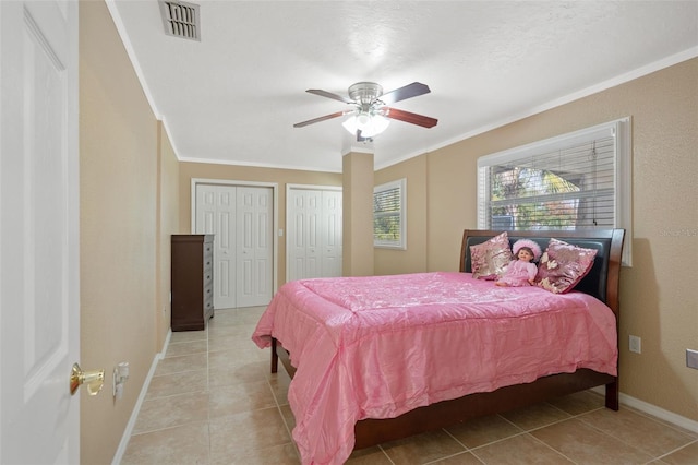
[[(328, 155), (329, 156), (329, 155)], [(332, 156), (339, 156), (337, 154)], [(278, 184), (278, 227), (284, 237), (275, 234), (278, 248), (278, 285), (286, 283), (286, 184), (341, 186), (341, 174), (303, 171), (297, 169), (256, 168), (206, 163), (180, 163), (179, 171), (179, 229), (191, 233), (192, 179), (220, 179), (225, 181), (265, 182)]]

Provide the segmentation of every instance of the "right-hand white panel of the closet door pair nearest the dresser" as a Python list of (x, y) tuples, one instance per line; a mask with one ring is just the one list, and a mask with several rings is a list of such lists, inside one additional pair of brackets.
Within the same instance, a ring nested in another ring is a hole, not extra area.
[(265, 306), (273, 291), (272, 189), (238, 187), (238, 307)]

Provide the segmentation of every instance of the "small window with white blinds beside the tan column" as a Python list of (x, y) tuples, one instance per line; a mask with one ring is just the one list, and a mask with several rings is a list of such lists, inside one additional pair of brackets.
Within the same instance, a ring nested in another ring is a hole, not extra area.
[(373, 188), (373, 246), (407, 249), (406, 179)]

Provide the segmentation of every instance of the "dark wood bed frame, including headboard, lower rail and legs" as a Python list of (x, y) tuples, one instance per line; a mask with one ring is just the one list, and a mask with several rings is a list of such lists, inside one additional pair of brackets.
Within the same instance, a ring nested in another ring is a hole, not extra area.
[[(466, 229), (462, 236), (460, 271), (470, 272), (470, 246), (484, 242), (502, 231)], [(508, 231), (509, 242), (527, 238), (537, 241), (545, 250), (551, 237), (559, 238), (579, 247), (598, 249), (594, 265), (587, 276), (575, 287), (604, 301), (619, 320), (618, 284), (621, 254), (623, 251), (623, 229), (577, 229), (545, 231)], [(291, 366), (288, 353), (276, 339), (272, 341), (272, 372), (278, 370), (278, 360), (291, 378), (296, 368)], [(579, 369), (574, 373), (552, 374), (539, 378), (532, 383), (501, 388), (493, 392), (476, 393), (452, 401), (419, 407), (396, 418), (366, 418), (354, 427), (354, 449), (385, 443), (407, 438), (420, 432), (444, 428), (470, 418), (493, 415), (514, 408), (532, 405), (557, 396), (605, 386), (605, 406), (618, 409), (618, 380), (605, 373)]]

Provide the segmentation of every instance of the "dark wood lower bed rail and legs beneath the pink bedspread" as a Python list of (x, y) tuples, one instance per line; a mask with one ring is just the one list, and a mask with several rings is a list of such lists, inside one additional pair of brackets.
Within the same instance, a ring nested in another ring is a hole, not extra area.
[[(289, 354), (280, 343), (273, 338), (273, 373), (277, 372), (279, 360), (289, 377), (293, 378), (296, 368), (290, 362)], [(617, 378), (588, 369), (580, 369), (574, 373), (539, 378), (528, 384), (516, 384), (501, 388), (493, 392), (470, 394), (453, 401), (438, 402), (416, 408), (396, 418), (366, 418), (354, 426), (354, 449), (363, 449), (420, 432), (445, 428), (470, 418), (500, 414), (600, 385), (605, 385), (606, 407), (617, 410)]]

